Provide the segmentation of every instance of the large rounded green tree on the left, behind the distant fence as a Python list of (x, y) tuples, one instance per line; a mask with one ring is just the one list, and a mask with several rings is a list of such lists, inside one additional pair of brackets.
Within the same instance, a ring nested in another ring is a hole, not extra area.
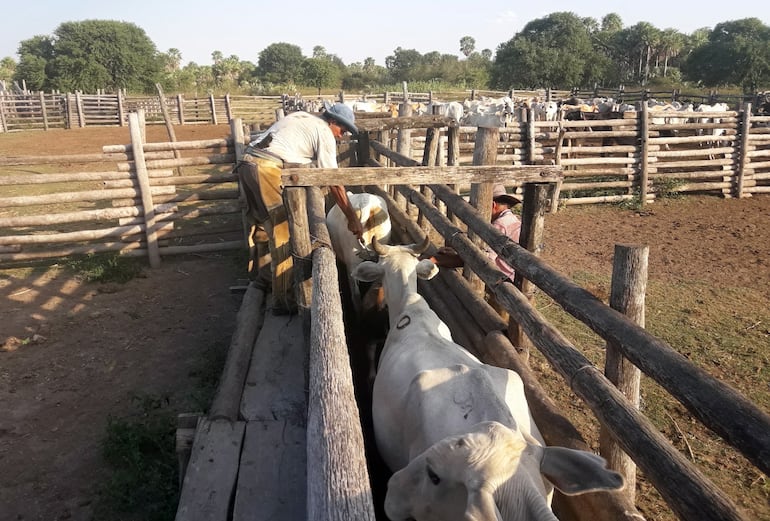
[(162, 62), (144, 30), (128, 22), (65, 22), (54, 32), (54, 56), (46, 72), (63, 91), (126, 89), (152, 92)]

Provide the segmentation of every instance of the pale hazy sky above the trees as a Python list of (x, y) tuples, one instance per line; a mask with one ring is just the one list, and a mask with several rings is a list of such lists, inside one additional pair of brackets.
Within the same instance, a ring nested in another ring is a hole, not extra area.
[[(444, 0), (382, 2), (254, 1), (202, 2), (199, 0), (0, 0), (0, 58), (18, 60), (19, 42), (36, 35), (51, 35), (62, 22), (117, 20), (144, 29), (159, 51), (174, 47), (183, 64), (211, 64), (211, 53), (256, 63), (259, 52), (272, 43), (298, 45), (305, 56), (321, 45), (343, 62), (374, 58), (378, 65), (396, 47), (460, 55), (460, 38), (471, 36), (476, 50), (490, 49), (510, 40), (527, 22), (550, 13), (571, 11), (601, 21), (618, 13), (623, 25), (649, 22), (658, 29), (674, 28), (691, 33), (730, 20), (756, 17), (770, 25), (770, 10), (757, 0), (717, 3), (607, 2), (512, 2), (510, 0)], [(384, 7), (388, 11), (384, 11)], [(233, 10), (233, 9), (236, 10)], [(8, 14), (13, 13), (13, 14)]]

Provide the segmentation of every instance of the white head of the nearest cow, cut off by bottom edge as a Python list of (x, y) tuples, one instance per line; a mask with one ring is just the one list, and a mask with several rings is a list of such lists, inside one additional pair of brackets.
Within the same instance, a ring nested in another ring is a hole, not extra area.
[(622, 476), (605, 463), (482, 422), (435, 443), (396, 472), (385, 512), (392, 521), (558, 521), (549, 506), (551, 484), (568, 495), (623, 488)]

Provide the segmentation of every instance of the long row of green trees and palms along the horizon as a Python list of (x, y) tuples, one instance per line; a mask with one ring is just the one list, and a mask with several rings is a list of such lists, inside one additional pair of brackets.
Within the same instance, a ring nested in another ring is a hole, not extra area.
[(159, 52), (143, 29), (112, 20), (65, 22), (53, 35), (19, 43), (18, 62), (0, 60), (0, 80), (31, 91), (277, 94), (303, 89), (571, 89), (618, 85), (770, 88), (770, 27), (757, 18), (726, 21), (691, 34), (647, 22), (624, 27), (616, 13), (600, 21), (556, 12), (527, 23), (492, 52), (459, 40), (460, 55), (397, 47), (385, 65), (345, 64), (317, 45), (312, 56), (279, 42), (256, 62), (212, 52), (212, 65), (181, 66), (182, 54)]

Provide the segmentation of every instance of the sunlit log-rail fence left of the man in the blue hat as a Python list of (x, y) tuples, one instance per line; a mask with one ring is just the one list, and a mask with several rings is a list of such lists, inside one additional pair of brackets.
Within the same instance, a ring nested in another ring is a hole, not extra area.
[(245, 247), (231, 139), (131, 144), (101, 154), (0, 158), (0, 264), (114, 252)]

